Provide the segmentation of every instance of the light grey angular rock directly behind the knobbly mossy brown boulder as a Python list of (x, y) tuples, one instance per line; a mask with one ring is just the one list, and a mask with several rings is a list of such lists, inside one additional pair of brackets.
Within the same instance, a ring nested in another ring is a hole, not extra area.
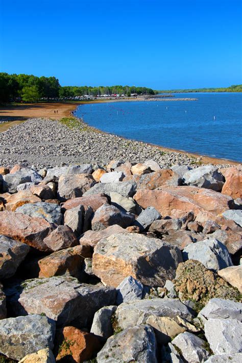
[(182, 257), (184, 261), (187, 259), (200, 261), (207, 269), (215, 271), (233, 265), (227, 247), (215, 238), (204, 239), (186, 246)]

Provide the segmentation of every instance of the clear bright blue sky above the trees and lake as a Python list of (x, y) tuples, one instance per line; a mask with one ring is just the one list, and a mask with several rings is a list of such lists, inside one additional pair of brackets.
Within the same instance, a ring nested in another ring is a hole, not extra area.
[(0, 0), (0, 71), (61, 85), (241, 84), (241, 1)]

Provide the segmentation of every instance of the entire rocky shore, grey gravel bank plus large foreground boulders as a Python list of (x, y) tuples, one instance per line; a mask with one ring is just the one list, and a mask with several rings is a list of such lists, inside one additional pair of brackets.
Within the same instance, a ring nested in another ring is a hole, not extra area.
[(1, 361), (241, 361), (242, 166), (158, 151), (52, 120), (3, 134)]

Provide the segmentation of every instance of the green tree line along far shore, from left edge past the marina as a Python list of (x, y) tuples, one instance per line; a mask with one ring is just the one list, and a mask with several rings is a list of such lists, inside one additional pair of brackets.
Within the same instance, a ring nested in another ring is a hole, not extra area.
[(23, 101), (36, 102), (39, 100), (70, 99), (76, 96), (97, 96), (111, 94), (155, 94), (158, 93), (151, 88), (135, 86), (100, 86), (100, 87), (78, 87), (61, 86), (56, 77), (36, 77), (33, 75), (9, 75), (0, 73), (0, 103)]

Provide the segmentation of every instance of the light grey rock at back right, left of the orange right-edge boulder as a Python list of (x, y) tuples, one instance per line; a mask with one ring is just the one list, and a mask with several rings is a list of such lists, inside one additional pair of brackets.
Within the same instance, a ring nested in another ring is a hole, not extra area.
[(183, 179), (187, 185), (215, 191), (222, 190), (225, 181), (224, 176), (214, 165), (205, 165), (192, 169), (183, 175)]

